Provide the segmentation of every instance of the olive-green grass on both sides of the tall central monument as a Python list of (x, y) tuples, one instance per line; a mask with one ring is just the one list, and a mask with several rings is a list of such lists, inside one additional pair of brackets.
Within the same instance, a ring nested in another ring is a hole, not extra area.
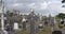
[[(42, 31), (40, 31), (38, 34), (51, 34), (52, 31), (50, 28), (46, 27)], [(30, 31), (21, 31), (15, 34), (30, 34)]]

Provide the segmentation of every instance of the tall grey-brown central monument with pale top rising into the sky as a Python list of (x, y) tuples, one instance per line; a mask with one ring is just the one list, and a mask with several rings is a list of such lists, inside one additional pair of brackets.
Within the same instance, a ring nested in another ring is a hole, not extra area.
[(30, 10), (30, 34), (36, 34), (36, 29), (35, 29), (35, 18), (34, 18), (34, 10)]

